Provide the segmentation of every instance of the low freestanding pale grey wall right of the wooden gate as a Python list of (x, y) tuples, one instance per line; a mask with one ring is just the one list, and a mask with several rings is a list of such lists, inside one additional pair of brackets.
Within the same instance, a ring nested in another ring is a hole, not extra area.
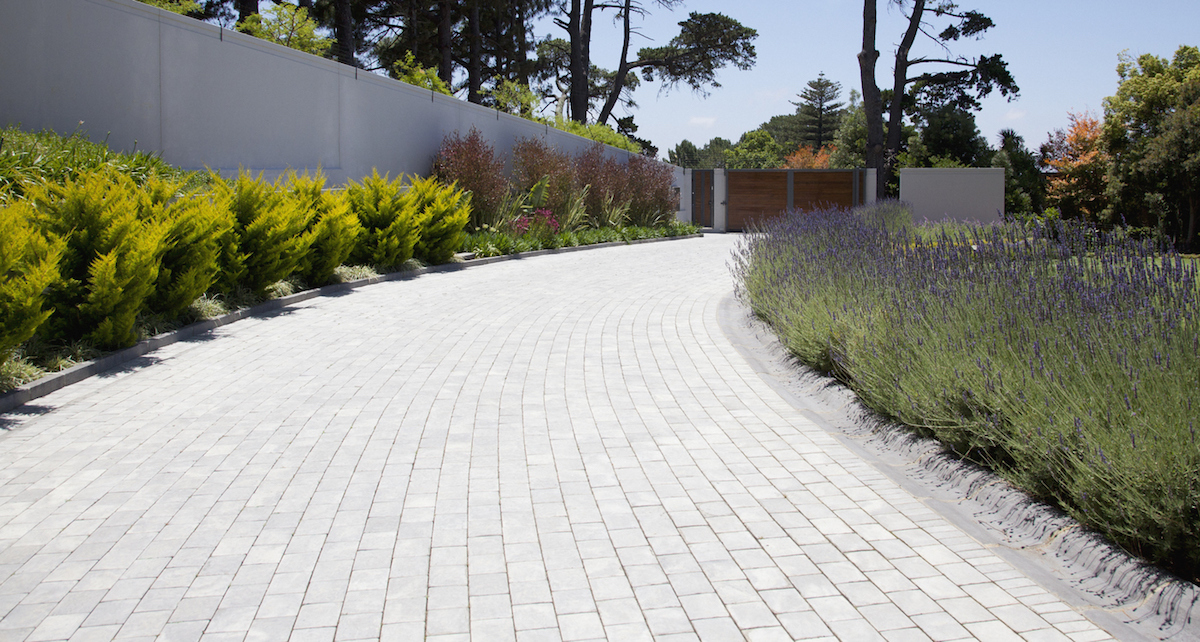
[(900, 169), (900, 200), (912, 206), (914, 221), (994, 223), (1004, 215), (1004, 169)]

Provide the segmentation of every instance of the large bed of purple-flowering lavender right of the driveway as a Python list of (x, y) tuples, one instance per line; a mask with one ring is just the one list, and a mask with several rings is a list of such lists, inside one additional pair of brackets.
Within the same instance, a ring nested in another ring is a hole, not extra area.
[(739, 295), (868, 406), (1195, 580), (1196, 262), (1060, 222), (880, 220), (764, 223), (738, 248)]

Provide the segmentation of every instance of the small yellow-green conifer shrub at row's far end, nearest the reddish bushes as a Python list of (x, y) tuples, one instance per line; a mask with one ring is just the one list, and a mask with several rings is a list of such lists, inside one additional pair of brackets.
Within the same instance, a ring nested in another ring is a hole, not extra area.
[(431, 264), (454, 258), (467, 236), (464, 229), (470, 220), (470, 194), (455, 184), (442, 185), (432, 176), (414, 176), (403, 198), (412, 199), (422, 211), (416, 258)]

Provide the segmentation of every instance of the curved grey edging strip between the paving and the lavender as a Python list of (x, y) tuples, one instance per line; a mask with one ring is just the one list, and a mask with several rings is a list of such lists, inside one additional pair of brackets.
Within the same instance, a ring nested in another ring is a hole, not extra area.
[(1200, 587), (1126, 553), (998, 475), (865, 408), (787, 356), (734, 295), (719, 323), (772, 388), (926, 505), (1122, 640), (1200, 640)]

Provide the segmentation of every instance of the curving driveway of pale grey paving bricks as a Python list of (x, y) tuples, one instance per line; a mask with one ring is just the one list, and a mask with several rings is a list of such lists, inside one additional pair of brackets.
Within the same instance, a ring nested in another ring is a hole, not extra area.
[(316, 298), (5, 415), (0, 638), (1103, 638), (763, 380), (737, 239)]

